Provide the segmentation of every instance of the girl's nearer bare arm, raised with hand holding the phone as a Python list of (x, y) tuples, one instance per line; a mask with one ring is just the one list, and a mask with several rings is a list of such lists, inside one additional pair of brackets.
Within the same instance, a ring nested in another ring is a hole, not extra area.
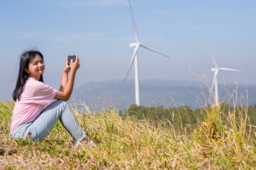
[(73, 91), (73, 84), (75, 81), (75, 73), (77, 69), (79, 69), (79, 59), (77, 54), (75, 54), (75, 62), (72, 62), (72, 61), (73, 60), (71, 60), (69, 65), (70, 67), (69, 79), (67, 79), (67, 75), (63, 73), (64, 78), (61, 81), (60, 90), (57, 92), (54, 99), (68, 100), (69, 97), (71, 96), (71, 93)]

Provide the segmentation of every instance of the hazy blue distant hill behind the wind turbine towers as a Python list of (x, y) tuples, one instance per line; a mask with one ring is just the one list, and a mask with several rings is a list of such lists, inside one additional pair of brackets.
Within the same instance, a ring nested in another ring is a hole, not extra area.
[[(135, 103), (134, 81), (102, 81), (84, 83), (73, 91), (75, 101), (84, 101), (91, 110), (102, 110), (109, 107), (125, 110)], [(219, 85), (220, 100), (247, 105), (256, 103), (256, 85), (245, 87)], [(248, 94), (247, 95), (247, 91)], [(237, 93), (235, 93), (237, 92)], [(236, 99), (236, 100), (235, 100)], [(145, 106), (173, 108), (187, 105), (200, 108), (206, 103), (213, 103), (206, 85), (191, 81), (140, 81), (140, 102)]]

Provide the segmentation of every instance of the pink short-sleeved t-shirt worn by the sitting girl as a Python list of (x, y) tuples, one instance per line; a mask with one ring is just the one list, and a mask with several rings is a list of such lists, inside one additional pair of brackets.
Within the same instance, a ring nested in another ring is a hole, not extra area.
[(20, 100), (15, 101), (10, 130), (21, 124), (34, 121), (44, 107), (51, 104), (56, 93), (56, 89), (29, 77), (24, 91), (20, 95)]

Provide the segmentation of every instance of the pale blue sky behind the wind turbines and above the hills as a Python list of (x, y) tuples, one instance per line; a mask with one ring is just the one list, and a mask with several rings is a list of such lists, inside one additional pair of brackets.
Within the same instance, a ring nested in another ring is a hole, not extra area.
[[(256, 1), (131, 0), (131, 6), (141, 42), (172, 57), (139, 49), (140, 79), (210, 83), (212, 50), (219, 67), (243, 71), (220, 74), (220, 83), (256, 84)], [(57, 89), (67, 53), (81, 61), (75, 87), (125, 77), (135, 41), (127, 0), (0, 1), (0, 22), (0, 99), (11, 99), (18, 56), (34, 46), (44, 54), (45, 82)]]

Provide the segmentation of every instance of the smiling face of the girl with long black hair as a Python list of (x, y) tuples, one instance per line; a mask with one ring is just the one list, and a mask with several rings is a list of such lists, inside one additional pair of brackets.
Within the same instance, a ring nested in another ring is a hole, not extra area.
[(42, 60), (40, 56), (36, 55), (25, 71), (30, 77), (39, 81), (40, 76), (44, 73), (44, 67), (44, 60)]

